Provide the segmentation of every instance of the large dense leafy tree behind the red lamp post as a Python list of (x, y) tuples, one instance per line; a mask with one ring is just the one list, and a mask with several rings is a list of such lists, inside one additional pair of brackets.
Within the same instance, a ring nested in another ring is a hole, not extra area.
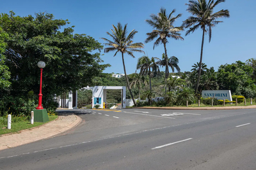
[(35, 17), (16, 17), (12, 11), (1, 14), (0, 27), (9, 35), (4, 55), (11, 72), (11, 95), (24, 96), (30, 90), (38, 94), (39, 60), (46, 63), (44, 99), (91, 85), (92, 78), (109, 66), (100, 64), (103, 46), (86, 34), (74, 34), (74, 26), (61, 31), (67, 24), (68, 20), (54, 19), (49, 13), (36, 13)]

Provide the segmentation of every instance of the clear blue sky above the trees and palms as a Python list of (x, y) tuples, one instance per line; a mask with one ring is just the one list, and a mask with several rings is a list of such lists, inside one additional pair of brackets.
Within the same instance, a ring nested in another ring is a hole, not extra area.
[[(151, 13), (158, 13), (161, 7), (166, 8), (170, 13), (176, 9), (174, 15), (182, 13), (175, 26), (180, 26), (183, 20), (186, 20), (190, 14), (186, 11), (188, 0), (45, 0), (45, 1), (1, 1), (0, 12), (9, 13), (14, 11), (16, 15), (28, 16), (38, 12), (47, 11), (52, 13), (56, 19), (68, 19), (68, 27), (75, 25), (75, 33), (87, 34), (92, 36), (100, 43), (104, 41), (100, 38), (110, 37), (106, 34), (112, 29), (112, 24), (121, 22), (127, 25), (129, 32), (136, 29), (138, 33), (134, 37), (134, 42), (143, 42), (147, 38), (146, 33), (152, 31), (152, 27), (145, 20), (150, 18)], [(208, 35), (205, 37), (203, 62), (207, 67), (214, 67), (215, 70), (221, 64), (231, 64), (237, 60), (245, 62), (247, 59), (256, 58), (255, 39), (256, 39), (256, 1), (255, 0), (226, 0), (216, 6), (216, 11), (230, 11), (230, 18), (221, 18), (223, 23), (218, 24), (212, 29), (211, 43), (208, 41)], [(167, 45), (168, 56), (174, 55), (179, 59), (179, 66), (182, 72), (190, 71), (191, 66), (199, 62), (200, 48), (202, 42), (202, 30), (198, 29), (193, 34), (185, 36), (181, 32), (184, 41), (169, 39)], [(145, 53), (148, 57), (161, 58), (164, 52), (163, 45), (159, 45), (153, 50), (153, 42), (145, 44)], [(104, 54), (104, 52), (102, 52)], [(113, 57), (114, 53), (105, 53), (102, 59), (105, 64), (111, 64), (104, 73), (124, 73), (122, 66), (122, 57), (119, 53)], [(143, 53), (134, 53), (133, 59), (125, 55), (125, 66), (127, 74), (134, 73), (136, 63)], [(162, 69), (164, 71), (164, 69)]]

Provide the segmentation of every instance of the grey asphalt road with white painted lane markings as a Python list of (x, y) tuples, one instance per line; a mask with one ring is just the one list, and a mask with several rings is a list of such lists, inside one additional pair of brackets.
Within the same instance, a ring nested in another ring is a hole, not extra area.
[(71, 131), (0, 152), (0, 169), (256, 169), (256, 110), (76, 111)]

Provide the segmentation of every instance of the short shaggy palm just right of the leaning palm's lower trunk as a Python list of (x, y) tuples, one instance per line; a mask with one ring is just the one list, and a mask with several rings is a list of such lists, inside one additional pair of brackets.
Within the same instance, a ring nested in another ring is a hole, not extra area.
[(142, 87), (142, 84), (148, 85), (148, 80), (145, 76), (138, 73), (131, 74), (130, 78), (131, 78), (130, 87), (134, 87), (134, 88), (138, 87), (139, 101), (140, 101), (140, 89)]

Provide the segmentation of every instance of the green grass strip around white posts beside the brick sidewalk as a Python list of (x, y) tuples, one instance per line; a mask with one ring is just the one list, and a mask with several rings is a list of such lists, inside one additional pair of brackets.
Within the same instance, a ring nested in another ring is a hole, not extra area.
[[(49, 122), (51, 122), (52, 120), (55, 120), (56, 118), (58, 118), (57, 115), (50, 115), (49, 116)], [(20, 120), (20, 121), (17, 121), (17, 122), (12, 121), (11, 129), (7, 129), (7, 123), (6, 124), (1, 123), (0, 124), (0, 135), (1, 134), (8, 134), (8, 133), (16, 133), (16, 132), (19, 132), (21, 130), (29, 129), (31, 127), (36, 127), (38, 125), (42, 125), (42, 124), (46, 124), (46, 123), (47, 122), (45, 122), (45, 123), (34, 122), (34, 124), (32, 125), (29, 120)], [(3, 129), (3, 127), (6, 127), (6, 129)]]

